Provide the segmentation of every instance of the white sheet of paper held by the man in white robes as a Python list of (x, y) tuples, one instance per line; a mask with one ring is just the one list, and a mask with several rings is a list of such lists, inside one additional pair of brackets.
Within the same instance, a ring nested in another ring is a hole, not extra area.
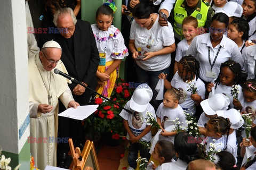
[(99, 105), (78, 106), (77, 108), (70, 107), (66, 111), (58, 114), (58, 116), (73, 118), (82, 121), (90, 116), (93, 112), (97, 111), (98, 107)]

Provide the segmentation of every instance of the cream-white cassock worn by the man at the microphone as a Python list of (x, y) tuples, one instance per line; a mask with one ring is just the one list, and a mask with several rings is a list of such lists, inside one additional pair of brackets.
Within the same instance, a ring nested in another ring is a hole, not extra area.
[[(58, 98), (66, 108), (74, 98), (68, 87), (68, 80), (55, 74), (53, 70), (51, 72), (44, 70), (39, 60), (39, 54), (28, 58), (28, 68), (30, 152), (35, 158), (35, 166), (44, 169), (46, 165), (57, 165), (57, 143), (52, 139), (57, 138), (58, 134)], [(63, 63), (58, 64), (55, 68), (67, 73)], [(48, 94), (52, 96), (50, 102)], [(37, 113), (39, 104), (50, 104), (53, 109), (50, 113)], [(37, 142), (33, 140), (35, 138)]]

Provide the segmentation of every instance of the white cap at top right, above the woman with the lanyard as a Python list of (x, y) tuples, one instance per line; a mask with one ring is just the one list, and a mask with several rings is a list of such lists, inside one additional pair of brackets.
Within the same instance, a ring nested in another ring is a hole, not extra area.
[(243, 14), (243, 7), (237, 2), (227, 2), (222, 10), (216, 11), (216, 13), (222, 12), (228, 15), (228, 17), (236, 16), (241, 17)]

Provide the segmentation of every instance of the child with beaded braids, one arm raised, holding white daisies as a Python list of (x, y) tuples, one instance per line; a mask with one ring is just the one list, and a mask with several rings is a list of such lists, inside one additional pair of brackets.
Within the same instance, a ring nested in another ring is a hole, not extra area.
[(183, 99), (179, 100), (179, 105), (186, 110), (186, 113), (195, 114), (195, 104), (199, 106), (205, 96), (204, 83), (199, 79), (199, 62), (191, 55), (184, 56), (178, 63), (178, 71), (174, 74), (171, 83), (166, 77), (167, 74), (164, 73), (158, 75), (159, 79), (164, 79), (166, 89), (174, 87), (183, 91)]

